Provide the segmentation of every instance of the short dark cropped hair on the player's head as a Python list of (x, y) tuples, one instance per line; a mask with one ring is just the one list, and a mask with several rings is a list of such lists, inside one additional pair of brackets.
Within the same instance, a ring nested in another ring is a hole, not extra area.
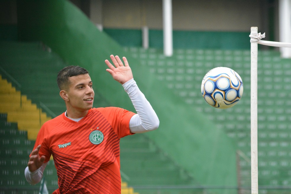
[(89, 72), (85, 68), (71, 65), (64, 67), (62, 70), (59, 71), (56, 81), (60, 90), (64, 90), (67, 89), (70, 85), (69, 77), (84, 74), (89, 74)]

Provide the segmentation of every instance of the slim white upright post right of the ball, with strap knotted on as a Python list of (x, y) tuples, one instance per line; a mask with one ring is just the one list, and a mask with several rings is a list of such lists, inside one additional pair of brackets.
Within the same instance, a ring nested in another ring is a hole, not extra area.
[[(258, 34), (258, 27), (250, 33)], [(250, 149), (251, 149), (251, 194), (258, 194), (258, 43), (250, 43)]]

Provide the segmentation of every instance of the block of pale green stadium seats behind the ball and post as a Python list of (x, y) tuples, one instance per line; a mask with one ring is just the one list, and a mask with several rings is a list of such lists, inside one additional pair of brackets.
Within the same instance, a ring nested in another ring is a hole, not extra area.
[[(241, 186), (250, 187), (250, 51), (176, 49), (172, 57), (162, 50), (125, 47), (140, 65), (150, 68), (159, 80), (165, 81), (173, 93), (188, 106), (224, 129), (237, 142), (240, 157)], [(241, 101), (231, 109), (215, 109), (201, 95), (204, 75), (214, 67), (234, 69), (243, 80)], [(278, 51), (258, 52), (258, 173), (259, 185), (291, 184), (290, 157), (290, 82), (291, 60), (281, 59)], [(261, 190), (267, 193), (267, 190)]]

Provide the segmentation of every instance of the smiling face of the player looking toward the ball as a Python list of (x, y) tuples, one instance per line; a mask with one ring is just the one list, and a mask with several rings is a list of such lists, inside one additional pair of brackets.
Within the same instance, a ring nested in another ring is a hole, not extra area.
[(82, 113), (93, 106), (94, 91), (89, 74), (69, 77), (70, 85), (67, 92), (67, 111)]

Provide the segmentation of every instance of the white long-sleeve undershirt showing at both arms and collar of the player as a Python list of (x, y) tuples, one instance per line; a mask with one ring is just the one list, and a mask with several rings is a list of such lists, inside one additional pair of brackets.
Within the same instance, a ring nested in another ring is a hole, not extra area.
[[(143, 133), (157, 129), (160, 123), (159, 118), (157, 117), (156, 112), (153, 110), (151, 104), (148, 102), (144, 94), (138, 88), (135, 80), (133, 80), (132, 78), (131, 80), (124, 83), (122, 86), (127, 92), (135, 108), (135, 111), (137, 112), (137, 114), (133, 115), (130, 119), (130, 132)], [(80, 118), (79, 120), (81, 119), (82, 118)], [(32, 185), (40, 182), (46, 165), (47, 162), (43, 163), (43, 165), (34, 172), (30, 172), (27, 166), (25, 168), (26, 180)]]

